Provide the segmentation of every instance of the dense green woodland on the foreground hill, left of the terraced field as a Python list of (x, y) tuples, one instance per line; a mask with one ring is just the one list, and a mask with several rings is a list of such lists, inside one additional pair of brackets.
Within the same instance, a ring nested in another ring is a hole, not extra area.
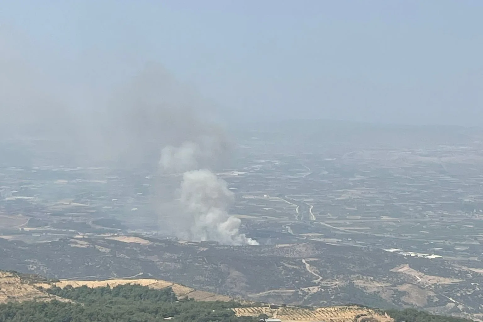
[(251, 322), (229, 308), (235, 302), (178, 300), (170, 288), (152, 290), (140, 285), (99, 288), (66, 287), (48, 290), (74, 303), (23, 302), (0, 305), (1, 322), (158, 322), (172, 317), (183, 322)]

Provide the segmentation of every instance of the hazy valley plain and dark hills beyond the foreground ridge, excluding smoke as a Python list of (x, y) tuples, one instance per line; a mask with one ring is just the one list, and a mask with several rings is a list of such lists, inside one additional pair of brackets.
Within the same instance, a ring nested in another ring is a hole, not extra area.
[[(306, 123), (296, 134), (234, 128), (230, 164), (216, 171), (234, 194), (240, 233), (258, 246), (177, 237), (176, 210), (156, 193), (180, 177), (62, 166), (44, 142), (4, 142), (0, 268), (482, 319), (482, 132)], [(35, 157), (14, 166), (25, 154)]]

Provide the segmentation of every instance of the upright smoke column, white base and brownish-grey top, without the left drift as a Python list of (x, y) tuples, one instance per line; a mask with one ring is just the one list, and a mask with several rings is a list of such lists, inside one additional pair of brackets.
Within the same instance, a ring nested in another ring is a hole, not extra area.
[[(239, 233), (240, 220), (227, 212), (233, 195), (210, 172), (222, 163), (229, 144), (224, 131), (210, 122), (215, 115), (209, 102), (161, 66), (149, 65), (110, 107), (111, 126), (102, 147), (130, 168), (153, 165), (160, 171), (153, 200), (160, 228), (184, 239), (256, 244)], [(208, 170), (186, 172), (200, 169)], [(177, 175), (183, 173), (179, 186)]]

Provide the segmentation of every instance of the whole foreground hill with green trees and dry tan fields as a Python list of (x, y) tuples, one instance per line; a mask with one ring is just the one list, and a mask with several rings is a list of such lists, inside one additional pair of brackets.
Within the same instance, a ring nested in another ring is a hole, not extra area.
[(0, 271), (0, 321), (31, 321), (32, 316), (35, 321), (42, 318), (83, 321), (85, 316), (89, 321), (124, 321), (126, 316), (122, 312), (128, 313), (129, 321), (134, 322), (255, 322), (260, 318), (283, 322), (471, 321), (360, 305), (302, 308), (241, 303), (224, 295), (156, 279), (50, 280), (39, 275)]

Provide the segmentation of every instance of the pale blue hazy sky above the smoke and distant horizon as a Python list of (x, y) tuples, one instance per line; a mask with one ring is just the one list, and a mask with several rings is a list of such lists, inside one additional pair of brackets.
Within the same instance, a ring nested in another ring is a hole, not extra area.
[(57, 82), (156, 61), (233, 119), (480, 125), (482, 17), (481, 0), (0, 0), (10, 55)]

